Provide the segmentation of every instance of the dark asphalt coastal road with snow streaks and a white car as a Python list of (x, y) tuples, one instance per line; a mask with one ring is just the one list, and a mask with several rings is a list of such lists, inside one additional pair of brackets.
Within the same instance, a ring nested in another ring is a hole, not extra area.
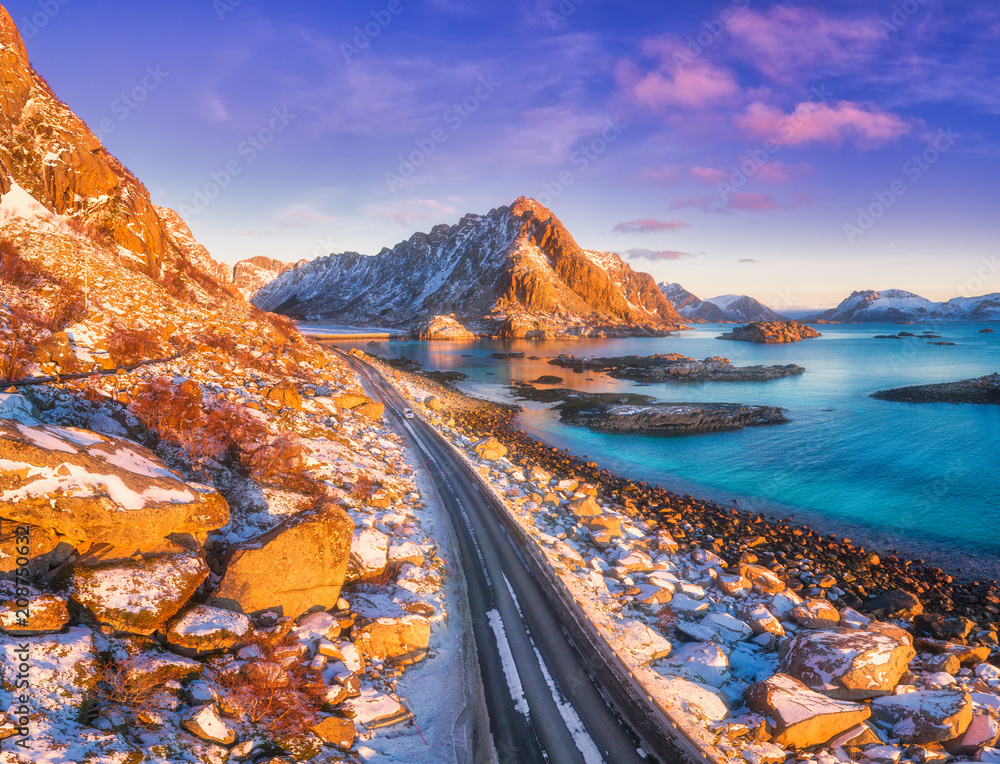
[[(595, 678), (593, 656), (583, 656), (553, 607), (551, 592), (494, 514), (493, 501), (440, 436), (381, 376), (343, 356), (370, 392), (397, 417), (426, 460), (437, 496), (449, 512), (466, 577), (473, 632), (491, 733), (501, 764), (648, 764), (650, 751), (675, 750), (663, 740), (642, 745), (609, 703), (607, 676)], [(647, 741), (650, 735), (644, 735)], [(646, 757), (639, 752), (640, 746)], [(681, 761), (678, 754), (663, 760)]]

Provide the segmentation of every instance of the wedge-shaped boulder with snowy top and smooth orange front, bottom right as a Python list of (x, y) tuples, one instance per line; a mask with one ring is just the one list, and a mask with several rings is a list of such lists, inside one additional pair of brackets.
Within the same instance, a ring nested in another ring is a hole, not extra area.
[(789, 748), (822, 745), (871, 715), (861, 703), (833, 700), (787, 674), (751, 685), (746, 701), (774, 724), (773, 741)]

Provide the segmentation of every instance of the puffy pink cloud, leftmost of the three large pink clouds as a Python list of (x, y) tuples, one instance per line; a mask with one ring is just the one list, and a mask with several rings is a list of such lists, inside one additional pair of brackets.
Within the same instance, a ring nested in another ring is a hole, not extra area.
[(684, 46), (670, 38), (643, 42), (647, 69), (620, 61), (615, 79), (629, 100), (658, 114), (675, 109), (698, 111), (731, 104), (740, 95), (733, 72), (704, 59), (691, 60)]

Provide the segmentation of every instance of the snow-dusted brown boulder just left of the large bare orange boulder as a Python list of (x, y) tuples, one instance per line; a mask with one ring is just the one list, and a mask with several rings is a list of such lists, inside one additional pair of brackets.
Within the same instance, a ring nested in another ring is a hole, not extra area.
[(184, 606), (208, 573), (202, 558), (183, 554), (76, 565), (71, 597), (102, 626), (149, 635)]

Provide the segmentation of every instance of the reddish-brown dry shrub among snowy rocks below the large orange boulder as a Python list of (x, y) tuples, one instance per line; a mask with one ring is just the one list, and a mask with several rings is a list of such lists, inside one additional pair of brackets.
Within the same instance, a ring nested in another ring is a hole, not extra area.
[(240, 649), (249, 648), (258, 657), (216, 677), (222, 708), (272, 734), (308, 730), (316, 723), (327, 688), (321, 673), (294, 654), (297, 644), (291, 636), (271, 644), (258, 635), (242, 643)]

